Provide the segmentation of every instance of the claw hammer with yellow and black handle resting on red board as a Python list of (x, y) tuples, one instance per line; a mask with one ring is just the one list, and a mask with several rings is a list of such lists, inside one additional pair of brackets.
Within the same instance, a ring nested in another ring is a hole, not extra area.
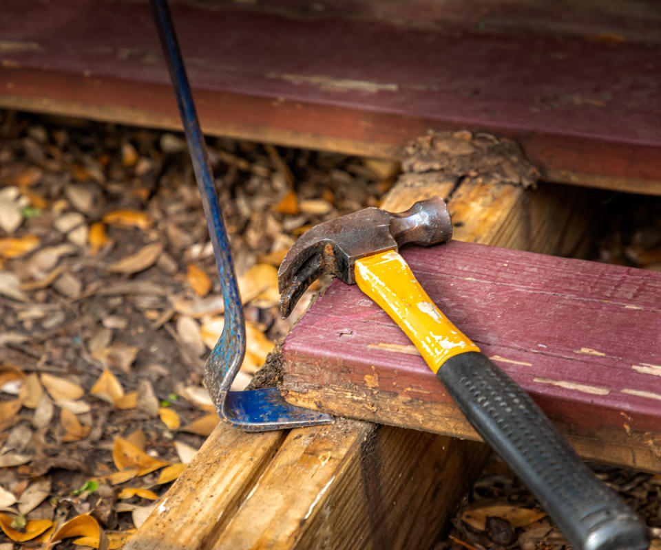
[(366, 208), (311, 228), (278, 270), (282, 316), (322, 274), (357, 284), (415, 344), (476, 431), (578, 550), (645, 550), (647, 527), (581, 461), (534, 401), (432, 303), (399, 247), (452, 238), (443, 199)]

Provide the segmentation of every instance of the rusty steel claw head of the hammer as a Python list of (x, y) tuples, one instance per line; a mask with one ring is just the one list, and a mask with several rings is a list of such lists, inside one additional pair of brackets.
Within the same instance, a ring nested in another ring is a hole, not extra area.
[(277, 271), (280, 311), (287, 317), (306, 289), (323, 274), (355, 284), (357, 259), (407, 243), (429, 246), (452, 238), (452, 222), (440, 197), (418, 201), (406, 212), (365, 208), (306, 231)]

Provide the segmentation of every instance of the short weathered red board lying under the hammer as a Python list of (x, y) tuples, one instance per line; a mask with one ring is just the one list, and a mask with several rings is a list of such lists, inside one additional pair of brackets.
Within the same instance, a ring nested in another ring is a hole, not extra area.
[[(441, 310), (554, 421), (591, 437), (609, 426), (661, 434), (661, 273), (459, 241), (403, 256)], [(282, 355), (285, 390), (362, 388), (367, 401), (376, 391), (462, 416), (356, 286), (330, 285)], [(393, 423), (379, 414), (366, 418)]]

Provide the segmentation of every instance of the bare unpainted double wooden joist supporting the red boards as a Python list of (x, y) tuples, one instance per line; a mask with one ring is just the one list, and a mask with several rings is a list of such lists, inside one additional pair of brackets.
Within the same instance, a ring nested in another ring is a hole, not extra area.
[[(459, 238), (544, 252), (582, 241), (587, 217), (571, 212), (584, 212), (584, 190), (480, 187), (396, 184), (384, 208), (441, 195), (463, 221)], [(483, 443), (361, 421), (278, 435), (220, 424), (127, 548), (430, 547), (489, 454)]]

